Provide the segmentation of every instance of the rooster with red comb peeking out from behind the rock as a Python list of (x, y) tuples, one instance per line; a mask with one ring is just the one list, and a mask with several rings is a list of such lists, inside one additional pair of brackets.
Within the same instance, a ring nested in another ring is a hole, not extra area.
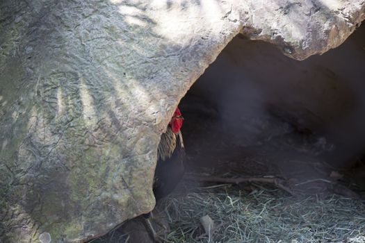
[(176, 108), (166, 132), (161, 135), (153, 186), (156, 201), (170, 194), (184, 176), (185, 151), (180, 130), (183, 119)]

